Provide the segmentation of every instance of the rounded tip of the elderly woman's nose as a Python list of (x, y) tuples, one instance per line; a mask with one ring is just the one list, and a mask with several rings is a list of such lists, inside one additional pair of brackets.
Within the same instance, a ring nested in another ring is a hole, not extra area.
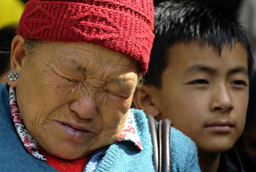
[(69, 104), (69, 108), (75, 111), (82, 119), (95, 118), (97, 115), (96, 104), (89, 99), (73, 101)]

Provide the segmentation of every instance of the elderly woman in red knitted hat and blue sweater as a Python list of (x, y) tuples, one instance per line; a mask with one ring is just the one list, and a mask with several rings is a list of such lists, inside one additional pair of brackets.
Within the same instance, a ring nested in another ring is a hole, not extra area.
[[(3, 171), (154, 171), (149, 125), (130, 109), (154, 35), (150, 0), (31, 0), (0, 86)], [(171, 130), (172, 170), (199, 171)]]

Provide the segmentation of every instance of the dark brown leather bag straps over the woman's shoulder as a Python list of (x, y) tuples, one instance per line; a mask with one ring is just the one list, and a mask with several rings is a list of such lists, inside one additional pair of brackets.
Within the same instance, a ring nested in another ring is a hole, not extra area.
[(148, 115), (149, 129), (153, 145), (153, 163), (157, 172), (171, 171), (171, 126), (169, 119), (158, 123), (153, 116)]

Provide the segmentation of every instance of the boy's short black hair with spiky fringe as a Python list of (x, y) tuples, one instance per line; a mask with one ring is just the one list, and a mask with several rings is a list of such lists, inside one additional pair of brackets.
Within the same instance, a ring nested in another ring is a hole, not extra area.
[(148, 73), (144, 82), (161, 89), (161, 76), (168, 65), (168, 49), (177, 41), (197, 40), (211, 45), (221, 53), (224, 45), (241, 42), (248, 56), (249, 75), (253, 57), (246, 31), (237, 15), (214, 3), (204, 1), (169, 0), (155, 8), (155, 39), (151, 50)]

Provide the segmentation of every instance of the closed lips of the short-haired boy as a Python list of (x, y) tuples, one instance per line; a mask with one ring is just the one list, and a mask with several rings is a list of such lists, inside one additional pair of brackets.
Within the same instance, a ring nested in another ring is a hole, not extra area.
[(229, 121), (216, 121), (206, 125), (206, 128), (216, 133), (228, 133), (234, 128)]

